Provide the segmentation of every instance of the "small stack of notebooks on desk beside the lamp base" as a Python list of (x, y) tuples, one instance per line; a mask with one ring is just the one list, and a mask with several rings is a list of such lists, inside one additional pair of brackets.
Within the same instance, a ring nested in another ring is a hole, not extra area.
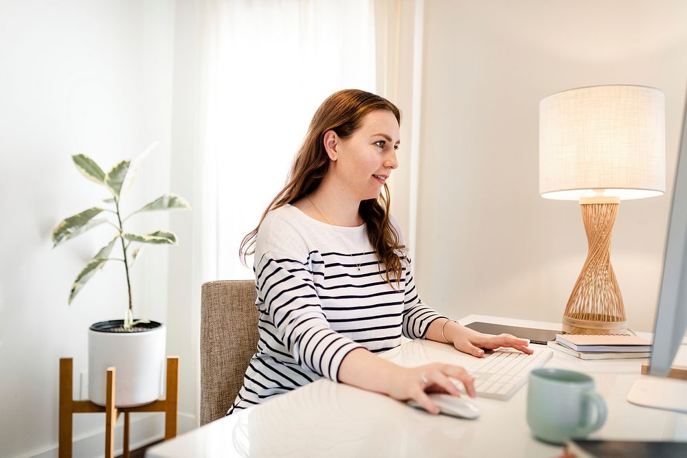
[(549, 347), (581, 359), (649, 358), (651, 341), (638, 336), (556, 334)]

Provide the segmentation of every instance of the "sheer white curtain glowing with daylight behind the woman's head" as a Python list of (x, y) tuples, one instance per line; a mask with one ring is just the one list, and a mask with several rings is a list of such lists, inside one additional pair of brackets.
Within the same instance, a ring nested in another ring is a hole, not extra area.
[[(240, 240), (284, 185), (317, 106), (375, 91), (370, 0), (210, 3), (201, 177), (207, 279), (248, 279)], [(252, 260), (248, 260), (252, 265)], [(214, 266), (214, 269), (212, 269)], [(214, 272), (212, 271), (214, 270)]]

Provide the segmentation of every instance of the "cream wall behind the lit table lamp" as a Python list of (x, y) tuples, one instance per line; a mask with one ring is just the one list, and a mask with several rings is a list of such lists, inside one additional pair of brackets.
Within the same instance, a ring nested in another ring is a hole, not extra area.
[[(594, 84), (666, 95), (672, 189), (687, 76), (684, 1), (425, 0), (416, 281), (438, 310), (560, 321), (587, 254), (578, 204), (539, 188), (539, 101)], [(611, 262), (651, 330), (671, 194), (626, 201)]]

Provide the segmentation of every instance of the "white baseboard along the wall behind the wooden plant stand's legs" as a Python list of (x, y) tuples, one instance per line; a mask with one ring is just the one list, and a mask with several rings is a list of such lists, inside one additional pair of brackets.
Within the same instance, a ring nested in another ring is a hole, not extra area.
[[(80, 414), (85, 415), (85, 414)], [(100, 415), (103, 427), (97, 432), (81, 435), (74, 438), (71, 451), (74, 457), (102, 457), (105, 449), (105, 417), (102, 414), (93, 413), (87, 415)], [(159, 413), (130, 413), (129, 414), (129, 450), (135, 450), (164, 438), (164, 415)], [(195, 429), (196, 417), (189, 413), (177, 415), (177, 435)], [(122, 437), (124, 435), (124, 415), (120, 415), (115, 424), (115, 455), (122, 454)], [(23, 455), (32, 458), (57, 458), (58, 446), (36, 450), (34, 453)]]

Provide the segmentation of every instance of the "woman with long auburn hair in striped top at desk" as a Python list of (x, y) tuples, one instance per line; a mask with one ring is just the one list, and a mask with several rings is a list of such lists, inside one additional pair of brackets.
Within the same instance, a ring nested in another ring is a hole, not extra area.
[(243, 259), (255, 253), (260, 341), (229, 413), (321, 377), (435, 414), (427, 393), (460, 396), (449, 378), (475, 396), (462, 367), (376, 356), (401, 334), (477, 357), (482, 348), (532, 353), (526, 340), (480, 334), (420, 301), (385, 183), (398, 167), (400, 124), (394, 104), (354, 89), (317, 109), (288, 183), (241, 244)]

